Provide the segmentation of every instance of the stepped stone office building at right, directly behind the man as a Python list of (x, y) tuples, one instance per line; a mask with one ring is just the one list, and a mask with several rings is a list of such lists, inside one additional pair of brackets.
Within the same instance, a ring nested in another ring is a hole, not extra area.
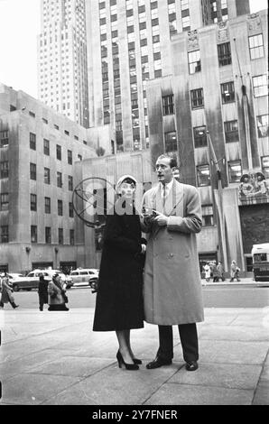
[(153, 161), (174, 152), (199, 189), (200, 263), (236, 260), (246, 274), (269, 240), (267, 31), (261, 11), (178, 34), (172, 75), (147, 88)]

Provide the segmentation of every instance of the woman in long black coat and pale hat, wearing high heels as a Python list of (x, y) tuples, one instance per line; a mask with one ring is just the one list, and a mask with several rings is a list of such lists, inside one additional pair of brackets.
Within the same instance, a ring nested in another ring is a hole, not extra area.
[(125, 175), (117, 182), (120, 198), (107, 213), (100, 263), (94, 331), (116, 331), (119, 366), (137, 370), (130, 330), (144, 327), (143, 254), (140, 219), (134, 206), (136, 180)]

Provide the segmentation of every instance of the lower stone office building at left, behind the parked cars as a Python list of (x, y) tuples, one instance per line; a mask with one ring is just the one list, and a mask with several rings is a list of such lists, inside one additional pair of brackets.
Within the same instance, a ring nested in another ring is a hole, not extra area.
[(0, 269), (85, 265), (72, 206), (77, 161), (97, 156), (89, 130), (0, 84)]

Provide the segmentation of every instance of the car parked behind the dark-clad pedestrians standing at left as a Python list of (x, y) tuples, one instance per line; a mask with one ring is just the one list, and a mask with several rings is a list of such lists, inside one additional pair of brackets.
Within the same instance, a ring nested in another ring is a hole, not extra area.
[(67, 289), (72, 286), (72, 281), (70, 281), (70, 278), (59, 270), (33, 270), (24, 277), (16, 277), (12, 282), (13, 290), (18, 291), (38, 289), (39, 278), (41, 275), (44, 276), (44, 280), (51, 281), (52, 275), (55, 273), (58, 273), (62, 281), (66, 282)]

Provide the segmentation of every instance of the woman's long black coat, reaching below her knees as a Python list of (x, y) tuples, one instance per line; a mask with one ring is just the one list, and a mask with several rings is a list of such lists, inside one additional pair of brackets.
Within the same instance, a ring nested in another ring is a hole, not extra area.
[(107, 215), (100, 263), (94, 331), (144, 327), (143, 260), (140, 220)]

